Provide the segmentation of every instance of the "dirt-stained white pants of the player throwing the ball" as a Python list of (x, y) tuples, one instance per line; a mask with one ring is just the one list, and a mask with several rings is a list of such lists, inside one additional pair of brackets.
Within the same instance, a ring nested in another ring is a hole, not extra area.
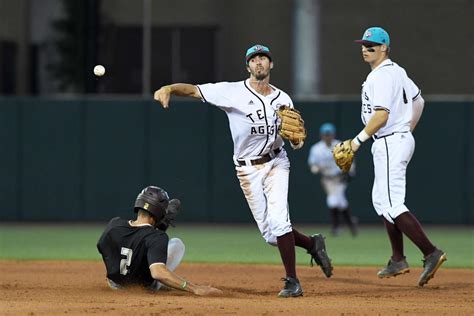
[(293, 231), (288, 210), (290, 161), (286, 151), (267, 163), (235, 169), (262, 237), (276, 246), (277, 237)]

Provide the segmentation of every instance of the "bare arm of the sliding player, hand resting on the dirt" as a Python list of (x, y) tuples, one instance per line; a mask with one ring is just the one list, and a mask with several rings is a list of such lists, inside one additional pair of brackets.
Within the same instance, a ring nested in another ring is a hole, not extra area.
[(168, 270), (164, 263), (153, 264), (150, 266), (150, 272), (153, 279), (158, 280), (164, 285), (176, 290), (191, 292), (196, 295), (220, 295), (222, 291), (207, 285), (197, 285), (184, 280), (177, 274)]

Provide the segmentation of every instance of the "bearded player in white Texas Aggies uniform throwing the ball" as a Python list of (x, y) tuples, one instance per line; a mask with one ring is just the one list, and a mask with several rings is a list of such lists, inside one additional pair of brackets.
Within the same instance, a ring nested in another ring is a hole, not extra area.
[[(278, 134), (281, 123), (276, 111), (282, 105), (293, 108), (293, 102), (288, 94), (270, 84), (273, 61), (267, 47), (250, 47), (245, 61), (250, 74), (246, 80), (200, 85), (177, 83), (161, 87), (154, 98), (167, 108), (172, 94), (194, 97), (227, 114), (240, 186), (263, 238), (278, 246), (285, 267), (285, 285), (278, 296), (300, 296), (303, 290), (296, 275), (295, 245), (306, 249), (327, 277), (332, 275), (332, 266), (324, 237), (306, 236), (290, 222), (290, 162)], [(303, 146), (303, 142), (290, 144), (296, 149)]]

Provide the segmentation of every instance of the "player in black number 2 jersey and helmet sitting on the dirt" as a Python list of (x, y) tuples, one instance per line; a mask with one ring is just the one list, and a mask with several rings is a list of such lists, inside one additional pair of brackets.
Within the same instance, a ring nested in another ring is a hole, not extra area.
[(221, 293), (216, 288), (186, 281), (173, 272), (183, 259), (185, 247), (179, 238), (169, 240), (166, 230), (173, 225), (179, 207), (179, 200), (170, 200), (165, 190), (149, 186), (135, 201), (136, 220), (110, 220), (97, 243), (109, 287), (141, 285), (159, 290), (164, 284), (196, 295)]

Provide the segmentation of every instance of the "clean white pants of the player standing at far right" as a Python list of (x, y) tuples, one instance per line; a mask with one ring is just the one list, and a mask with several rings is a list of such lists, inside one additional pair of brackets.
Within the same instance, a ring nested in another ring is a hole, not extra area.
[(415, 139), (410, 132), (379, 138), (372, 144), (374, 186), (372, 203), (379, 216), (393, 224), (405, 206), (406, 171), (415, 151)]

